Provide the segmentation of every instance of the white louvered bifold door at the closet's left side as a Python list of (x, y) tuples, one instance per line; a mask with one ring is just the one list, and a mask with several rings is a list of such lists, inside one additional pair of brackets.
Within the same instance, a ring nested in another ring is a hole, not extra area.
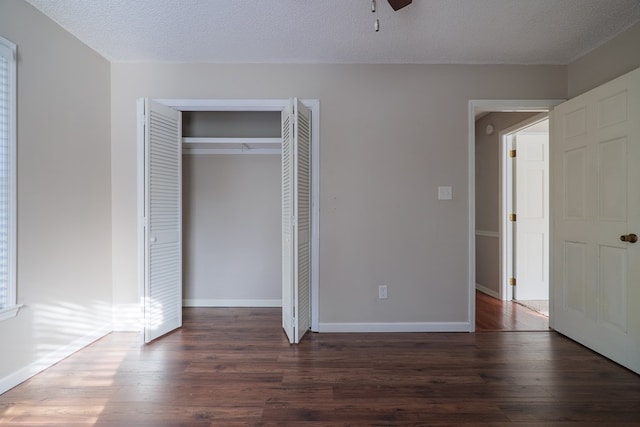
[(145, 100), (144, 338), (182, 326), (181, 113)]

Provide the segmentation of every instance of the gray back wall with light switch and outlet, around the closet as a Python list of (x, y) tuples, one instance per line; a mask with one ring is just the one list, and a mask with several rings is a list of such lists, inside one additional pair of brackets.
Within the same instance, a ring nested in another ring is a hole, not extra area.
[(138, 300), (137, 97), (320, 100), (322, 328), (468, 323), (468, 102), (565, 94), (563, 66), (113, 64), (114, 300)]

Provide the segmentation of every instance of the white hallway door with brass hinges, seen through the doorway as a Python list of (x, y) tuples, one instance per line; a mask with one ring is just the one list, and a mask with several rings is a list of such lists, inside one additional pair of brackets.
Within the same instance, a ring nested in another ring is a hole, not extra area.
[(514, 298), (549, 299), (549, 135), (516, 134)]

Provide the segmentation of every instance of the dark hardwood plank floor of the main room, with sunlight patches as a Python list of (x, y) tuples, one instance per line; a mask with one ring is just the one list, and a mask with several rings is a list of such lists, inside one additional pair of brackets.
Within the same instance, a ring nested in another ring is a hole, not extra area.
[(3, 426), (629, 426), (640, 376), (545, 332), (308, 334), (279, 309), (184, 310), (0, 396)]

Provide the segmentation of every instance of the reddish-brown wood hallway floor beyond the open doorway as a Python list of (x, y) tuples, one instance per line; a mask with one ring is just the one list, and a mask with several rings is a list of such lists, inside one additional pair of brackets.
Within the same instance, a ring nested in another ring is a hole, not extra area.
[(510, 301), (476, 292), (476, 331), (546, 331), (549, 318)]

